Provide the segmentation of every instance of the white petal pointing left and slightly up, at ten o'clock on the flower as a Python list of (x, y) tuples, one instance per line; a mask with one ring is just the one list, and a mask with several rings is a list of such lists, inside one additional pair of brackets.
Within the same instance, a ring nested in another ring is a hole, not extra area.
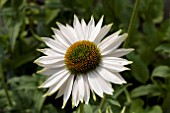
[(49, 46), (53, 50), (55, 50), (61, 54), (65, 54), (66, 50), (64, 48), (62, 48), (60, 45), (58, 45), (58, 43), (56, 43), (55, 40), (53, 40), (51, 38), (42, 38), (42, 40), (45, 42), (45, 44), (47, 46)]

